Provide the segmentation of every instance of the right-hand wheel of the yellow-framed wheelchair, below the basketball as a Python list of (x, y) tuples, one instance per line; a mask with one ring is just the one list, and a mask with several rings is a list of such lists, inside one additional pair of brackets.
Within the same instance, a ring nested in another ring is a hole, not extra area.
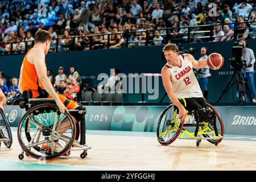
[[(218, 114), (217, 110), (214, 109), (214, 107), (212, 105), (210, 105), (210, 104), (208, 104), (208, 105), (214, 111), (214, 114), (215, 114), (218, 136), (216, 136), (215, 134), (203, 134), (203, 137), (205, 137), (205, 138), (224, 137), (224, 125), (223, 125), (222, 119), (220, 117), (220, 114)], [(212, 133), (212, 131), (214, 131), (213, 125), (214, 125), (214, 122), (209, 122), (208, 126), (207, 126), (208, 128), (204, 127), (204, 129), (207, 129), (207, 130), (205, 130), (205, 132)], [(207, 141), (212, 144), (217, 145), (218, 143), (220, 143), (222, 141), (222, 138), (218, 139), (218, 140), (208, 139)]]

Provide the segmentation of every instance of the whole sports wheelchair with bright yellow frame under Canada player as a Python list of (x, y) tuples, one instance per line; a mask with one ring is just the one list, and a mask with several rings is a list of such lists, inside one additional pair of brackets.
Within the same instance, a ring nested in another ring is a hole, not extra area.
[[(199, 146), (202, 139), (217, 146), (224, 137), (224, 125), (216, 109), (210, 104), (208, 106), (210, 113), (205, 110), (187, 111), (183, 120), (179, 118), (179, 109), (174, 104), (167, 106), (156, 127), (158, 142), (166, 146), (180, 136), (179, 139), (195, 139), (196, 146)], [(192, 127), (195, 128), (194, 131)]]

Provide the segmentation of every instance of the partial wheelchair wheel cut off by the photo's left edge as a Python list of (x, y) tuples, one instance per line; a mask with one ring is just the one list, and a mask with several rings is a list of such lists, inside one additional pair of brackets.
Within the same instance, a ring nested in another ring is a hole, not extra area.
[(2, 109), (0, 109), (0, 142), (1, 141), (5, 143), (7, 148), (11, 148), (11, 144), (13, 143), (11, 128)]

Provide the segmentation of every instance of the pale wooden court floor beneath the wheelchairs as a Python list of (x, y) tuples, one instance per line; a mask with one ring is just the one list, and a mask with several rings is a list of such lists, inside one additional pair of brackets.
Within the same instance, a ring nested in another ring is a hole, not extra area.
[[(115, 133), (89, 132), (86, 140), (92, 149), (85, 159), (80, 158), (80, 151), (72, 151), (68, 158), (47, 164), (110, 170), (256, 170), (255, 142), (224, 138), (218, 146), (203, 140), (196, 147), (195, 140), (177, 139), (170, 146), (161, 146), (152, 133), (149, 136), (137, 136), (136, 132)], [(38, 160), (27, 156), (18, 159), (21, 149), (15, 131), (13, 137), (11, 149), (2, 143), (0, 161), (17, 162), (21, 166), (25, 163), (39, 165)]]

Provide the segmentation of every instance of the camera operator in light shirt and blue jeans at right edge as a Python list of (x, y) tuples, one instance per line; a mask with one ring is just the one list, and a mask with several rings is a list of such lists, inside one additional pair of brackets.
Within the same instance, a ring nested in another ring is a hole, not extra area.
[(251, 98), (253, 98), (253, 102), (256, 102), (256, 92), (254, 85), (254, 63), (255, 57), (252, 49), (247, 48), (246, 40), (241, 40), (243, 43), (242, 49), (242, 60), (246, 60), (246, 78), (247, 84), (250, 88)]

